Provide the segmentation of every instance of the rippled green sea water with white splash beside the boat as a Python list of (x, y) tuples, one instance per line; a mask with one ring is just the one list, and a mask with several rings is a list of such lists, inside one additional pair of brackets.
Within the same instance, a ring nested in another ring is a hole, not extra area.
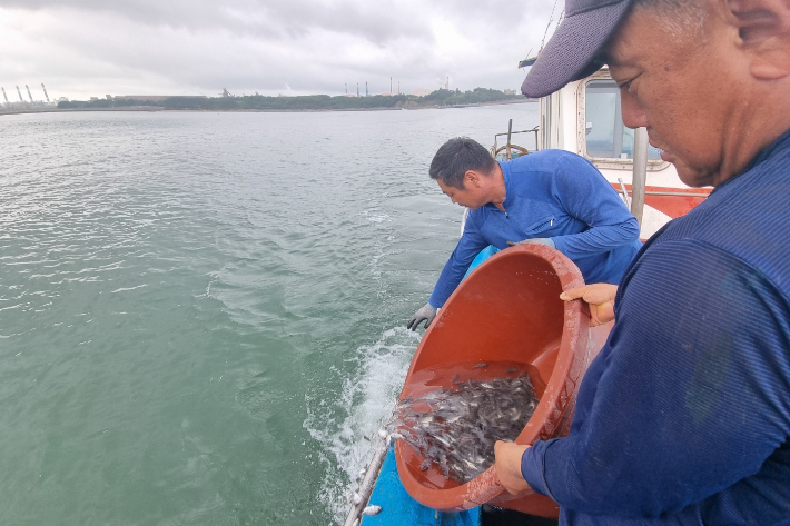
[(342, 523), (460, 235), (433, 153), (511, 118), (0, 117), (0, 524)]

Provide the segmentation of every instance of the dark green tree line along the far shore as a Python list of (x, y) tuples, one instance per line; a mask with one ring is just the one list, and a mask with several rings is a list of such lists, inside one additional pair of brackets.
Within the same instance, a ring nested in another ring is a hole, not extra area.
[(58, 108), (98, 109), (148, 106), (168, 110), (362, 110), (464, 106), (517, 99), (523, 99), (523, 96), (505, 93), (495, 89), (475, 88), (471, 91), (437, 89), (423, 97), (413, 95), (374, 95), (371, 97), (332, 97), (328, 95), (267, 97), (251, 95), (243, 97), (168, 97), (157, 101), (113, 98), (61, 101), (58, 102)]

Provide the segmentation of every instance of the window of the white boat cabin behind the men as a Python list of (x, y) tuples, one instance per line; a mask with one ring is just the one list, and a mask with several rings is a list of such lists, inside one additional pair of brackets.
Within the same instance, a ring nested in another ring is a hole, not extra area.
[[(591, 80), (585, 93), (585, 137), (590, 157), (633, 159), (633, 130), (623, 125), (620, 89), (613, 80)], [(648, 147), (648, 159), (661, 159), (661, 151)]]

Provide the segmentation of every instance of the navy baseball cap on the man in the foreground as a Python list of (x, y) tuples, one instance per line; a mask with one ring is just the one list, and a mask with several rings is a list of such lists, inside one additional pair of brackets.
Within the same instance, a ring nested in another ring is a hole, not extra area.
[(603, 66), (601, 51), (633, 0), (565, 0), (565, 18), (521, 85), (526, 97), (545, 97)]

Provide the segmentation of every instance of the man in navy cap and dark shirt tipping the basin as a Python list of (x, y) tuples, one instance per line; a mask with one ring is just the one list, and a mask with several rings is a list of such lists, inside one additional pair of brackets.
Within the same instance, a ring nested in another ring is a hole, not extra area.
[[(567, 0), (522, 91), (608, 63), (623, 121), (710, 197), (620, 286), (567, 437), (496, 444), (511, 493), (567, 525), (790, 525), (790, 1)], [(613, 292), (616, 291), (616, 295)]]

